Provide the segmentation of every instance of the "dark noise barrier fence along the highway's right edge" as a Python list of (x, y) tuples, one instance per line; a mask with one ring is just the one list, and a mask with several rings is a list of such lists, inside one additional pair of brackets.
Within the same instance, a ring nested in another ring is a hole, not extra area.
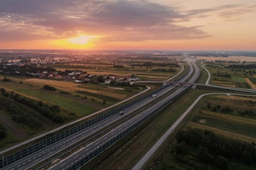
[(81, 166), (85, 165), (87, 162), (92, 160), (94, 157), (98, 156), (103, 151), (107, 150), (107, 148), (111, 147), (111, 145), (115, 144), (117, 141), (122, 139), (124, 136), (128, 135), (130, 132), (132, 132), (134, 129), (139, 127), (141, 124), (143, 124), (146, 120), (151, 118), (154, 114), (157, 112), (160, 112), (163, 108), (165, 108), (167, 105), (170, 104), (171, 100), (176, 100), (178, 97), (180, 97), (182, 94), (186, 93), (190, 88), (190, 86), (186, 87), (183, 91), (178, 93), (175, 97), (171, 98), (170, 100), (167, 100), (163, 105), (161, 105), (159, 108), (155, 108), (153, 111), (151, 111), (148, 115), (141, 118), (140, 120), (136, 121), (131, 126), (126, 127), (121, 133), (118, 133), (113, 136), (113, 138), (109, 139), (107, 142), (102, 144), (100, 147), (95, 148), (95, 150), (91, 151), (89, 154), (87, 154), (83, 159), (79, 160), (78, 162), (74, 163), (72, 166), (67, 168), (67, 170), (75, 170), (79, 169)]

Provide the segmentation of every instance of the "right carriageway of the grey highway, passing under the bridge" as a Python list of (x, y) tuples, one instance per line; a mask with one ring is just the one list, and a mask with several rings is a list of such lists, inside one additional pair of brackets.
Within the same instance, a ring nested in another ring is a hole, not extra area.
[[(200, 71), (195, 62), (191, 62), (190, 64), (190, 73), (189, 76), (186, 76), (186, 79), (188, 79), (190, 76), (192, 76), (192, 79), (190, 79), (189, 82), (195, 82), (195, 80), (199, 77)], [(193, 71), (193, 67), (195, 68), (195, 71)], [(183, 79), (183, 80), (186, 80)], [(184, 90), (187, 88), (190, 88), (190, 85), (184, 85), (183, 87), (180, 87), (178, 90), (176, 90), (174, 93), (170, 94), (170, 96), (166, 97), (165, 99), (161, 100), (160, 102), (156, 103), (155, 105), (151, 106), (150, 108), (146, 109), (146, 111), (143, 111), (141, 114), (137, 115), (134, 118), (131, 118), (130, 120), (126, 121), (116, 129), (112, 130), (111, 132), (107, 133), (106, 135), (102, 136), (101, 138), (97, 139), (96, 141), (92, 142), (91, 144), (87, 145), (86, 147), (82, 148), (81, 150), (77, 151), (76, 153), (72, 154), (71, 156), (67, 157), (66, 159), (62, 160), (61, 162), (57, 163), (50, 169), (66, 169), (70, 168), (70, 166), (75, 165), (76, 162), (79, 162), (81, 159), (84, 159), (86, 156), (89, 156), (93, 151), (95, 151), (97, 148), (102, 147), (105, 143), (110, 141), (111, 139), (115, 138), (117, 135), (128, 129), (129, 127), (132, 127), (134, 124), (139, 122), (140, 120), (143, 120), (143, 118), (147, 117), (148, 115), (152, 114), (153, 112), (159, 111), (161, 108), (163, 108), (166, 103), (170, 102), (172, 99), (174, 99), (176, 96), (183, 93)], [(73, 169), (73, 168), (71, 168)]]

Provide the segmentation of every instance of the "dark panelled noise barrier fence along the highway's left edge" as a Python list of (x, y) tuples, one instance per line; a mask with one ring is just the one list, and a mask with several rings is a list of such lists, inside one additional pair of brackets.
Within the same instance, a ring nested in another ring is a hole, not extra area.
[(38, 142), (37, 144), (34, 144), (23, 150), (17, 151), (14, 154), (4, 157), (0, 160), (0, 168), (4, 168), (5, 166), (10, 165), (11, 163), (16, 162), (17, 160), (27, 157), (30, 154), (35, 153), (36, 151), (42, 150), (43, 148), (46, 148), (49, 145), (54, 144), (55, 142), (58, 142), (64, 138), (67, 138), (70, 135), (73, 135), (76, 132), (80, 132), (80, 130), (86, 129), (89, 126), (92, 126), (93, 124), (98, 123), (99, 121), (105, 120), (106, 118), (111, 117), (112, 115), (119, 113), (123, 109), (129, 108), (130, 106), (133, 106), (136, 103), (141, 102), (142, 100), (148, 97), (151, 97), (152, 94), (158, 93), (159, 91), (169, 86), (170, 85), (166, 85), (164, 87), (158, 88), (157, 90), (152, 91), (151, 93), (146, 94), (145, 96), (142, 96), (136, 100), (133, 100), (130, 103), (126, 103), (125, 105), (122, 105), (119, 108), (113, 109), (112, 111), (109, 111), (105, 114), (99, 115), (98, 117), (93, 118), (92, 120), (89, 120), (86, 123), (79, 124), (78, 126), (72, 127), (64, 132), (58, 133), (57, 135), (54, 135), (51, 138), (45, 139), (41, 142)]

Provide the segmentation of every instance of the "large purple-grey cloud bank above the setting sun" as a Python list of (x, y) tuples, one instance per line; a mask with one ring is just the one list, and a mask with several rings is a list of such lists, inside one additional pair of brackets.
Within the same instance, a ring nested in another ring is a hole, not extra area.
[(0, 34), (9, 32), (11, 40), (17, 32), (29, 40), (70, 37), (77, 31), (102, 35), (102, 41), (205, 38), (209, 35), (201, 26), (178, 25), (199, 12), (182, 14), (146, 0), (8, 0), (0, 1)]

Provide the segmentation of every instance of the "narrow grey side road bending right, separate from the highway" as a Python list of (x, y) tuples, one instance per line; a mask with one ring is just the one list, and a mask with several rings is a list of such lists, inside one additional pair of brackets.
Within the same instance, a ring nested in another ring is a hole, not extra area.
[(157, 151), (157, 149), (160, 147), (161, 144), (167, 139), (167, 137), (173, 132), (174, 129), (178, 126), (178, 124), (183, 121), (183, 119), (189, 114), (189, 112), (194, 108), (194, 106), (199, 102), (199, 100), (202, 99), (204, 96), (208, 95), (214, 95), (214, 94), (225, 94), (225, 95), (236, 95), (236, 96), (255, 96), (255, 95), (245, 95), (245, 94), (234, 94), (234, 93), (207, 93), (207, 94), (202, 94), (201, 96), (198, 97), (198, 99), (195, 100), (195, 102), (192, 103), (192, 105), (189, 106), (189, 108), (181, 115), (178, 120), (175, 121), (175, 123), (164, 133), (163, 136), (154, 144), (154, 146), (142, 157), (142, 159), (139, 160), (139, 162), (136, 163), (136, 165), (133, 167), (132, 170), (139, 170), (142, 169), (143, 165), (149, 160), (149, 158), (152, 156), (152, 154)]

